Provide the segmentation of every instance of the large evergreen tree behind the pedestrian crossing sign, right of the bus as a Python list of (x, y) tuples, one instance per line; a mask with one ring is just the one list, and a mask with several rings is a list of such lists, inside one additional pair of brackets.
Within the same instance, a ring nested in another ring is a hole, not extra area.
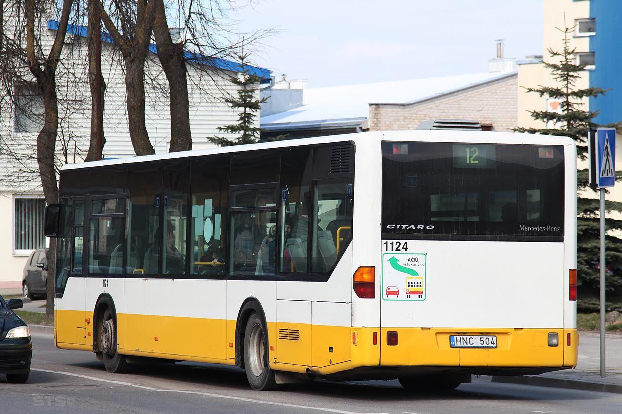
[[(575, 140), (577, 144), (577, 156), (579, 160), (587, 159), (587, 136), (590, 128), (599, 127), (593, 119), (598, 112), (582, 111), (583, 98), (598, 98), (605, 95), (601, 88), (576, 89), (575, 83), (581, 77), (580, 71), (585, 65), (575, 63), (576, 49), (569, 47), (569, 35), (574, 27), (558, 29), (564, 34), (564, 48), (561, 52), (549, 48), (551, 58), (555, 63), (544, 62), (557, 81), (556, 86), (539, 86), (538, 88), (526, 88), (540, 96), (559, 99), (560, 113), (549, 111), (530, 111), (531, 117), (537, 121), (546, 123), (546, 128), (515, 128), (514, 132), (527, 132), (529, 134), (546, 134), (554, 136), (567, 136)], [(618, 122), (619, 124), (619, 122)], [(606, 127), (616, 127), (618, 124), (609, 124)], [(616, 172), (616, 180), (622, 178), (620, 172)], [(595, 311), (598, 309), (598, 289), (600, 275), (598, 261), (600, 260), (600, 223), (598, 219), (599, 200), (593, 190), (588, 186), (587, 168), (578, 170), (578, 199), (577, 199), (577, 278), (578, 278), (578, 303), (582, 311)], [(607, 212), (622, 212), (622, 203), (618, 201), (606, 201)], [(619, 231), (622, 229), (622, 221), (606, 219), (606, 231)], [(622, 239), (606, 236), (606, 290), (607, 306), (619, 307), (622, 305)]]

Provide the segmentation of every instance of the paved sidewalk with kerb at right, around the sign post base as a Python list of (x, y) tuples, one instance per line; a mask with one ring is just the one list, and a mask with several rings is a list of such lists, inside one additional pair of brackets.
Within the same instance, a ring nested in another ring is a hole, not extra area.
[(577, 368), (521, 377), (494, 376), (492, 382), (622, 393), (622, 335), (606, 334), (605, 377), (600, 376), (600, 336), (581, 332)]

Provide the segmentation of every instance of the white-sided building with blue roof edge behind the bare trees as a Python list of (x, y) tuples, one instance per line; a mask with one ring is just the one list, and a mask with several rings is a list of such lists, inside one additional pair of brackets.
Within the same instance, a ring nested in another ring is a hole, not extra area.
[[(57, 27), (57, 22), (48, 21), (47, 27), (40, 30), (44, 48), (52, 44)], [(11, 27), (6, 27), (6, 34), (12, 35)], [(85, 76), (85, 35), (84, 27), (70, 27), (63, 47), (63, 64), (57, 70), (59, 113), (62, 117), (56, 148), (59, 165), (81, 162), (88, 149), (91, 99)], [(155, 47), (152, 47), (147, 59), (147, 132), (156, 152), (162, 153), (167, 152), (170, 142), (169, 90), (154, 52)], [(129, 139), (124, 70), (119, 60), (121, 57), (113, 45), (102, 42), (101, 69), (107, 84), (104, 158), (134, 156)], [(67, 66), (77, 73), (68, 73)], [(231, 109), (223, 97), (236, 93), (236, 85), (231, 83), (230, 76), (237, 76), (236, 71), (239, 73), (241, 68), (236, 63), (223, 60), (213, 66), (188, 62), (187, 68), (193, 149), (213, 146), (208, 142), (208, 136), (233, 138), (218, 132), (218, 127), (238, 122), (237, 111)], [(248, 68), (269, 81), (268, 70)], [(42, 101), (33, 85), (15, 83), (12, 85), (15, 99), (4, 93), (0, 102), (0, 292), (7, 288), (21, 289), (22, 269), (28, 255), (47, 242), (42, 234), (45, 201), (39, 177), (36, 173), (22, 171), (26, 167), (36, 172), (37, 168), (35, 142), (42, 124)], [(8, 154), (9, 150), (22, 155), (25, 164), (15, 162), (14, 157)]]

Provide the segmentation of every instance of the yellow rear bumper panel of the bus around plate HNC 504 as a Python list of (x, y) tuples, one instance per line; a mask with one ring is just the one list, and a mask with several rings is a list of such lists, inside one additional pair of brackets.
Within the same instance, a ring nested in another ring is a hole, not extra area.
[[(386, 343), (387, 332), (397, 333), (397, 345)], [(481, 335), (482, 329), (382, 328), (381, 366), (449, 367), (574, 367), (577, 365), (576, 329), (486, 329), (496, 336), (496, 348), (452, 348), (450, 336)], [(549, 333), (559, 344), (549, 346)], [(570, 344), (567, 341), (570, 335)]]

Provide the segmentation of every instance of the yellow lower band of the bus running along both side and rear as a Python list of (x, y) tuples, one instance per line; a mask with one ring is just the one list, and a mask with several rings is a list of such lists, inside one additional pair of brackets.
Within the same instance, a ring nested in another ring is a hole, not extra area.
[[(170, 316), (118, 315), (121, 354), (234, 364), (236, 321)], [(55, 342), (92, 351), (93, 313), (55, 311)], [(268, 323), (272, 369), (331, 375), (365, 367), (574, 367), (576, 329), (486, 329), (494, 349), (452, 348), (450, 336), (483, 329), (349, 328)], [(397, 345), (387, 344), (387, 332)], [(549, 333), (559, 344), (549, 346)], [(307, 371), (307, 369), (309, 371)]]

